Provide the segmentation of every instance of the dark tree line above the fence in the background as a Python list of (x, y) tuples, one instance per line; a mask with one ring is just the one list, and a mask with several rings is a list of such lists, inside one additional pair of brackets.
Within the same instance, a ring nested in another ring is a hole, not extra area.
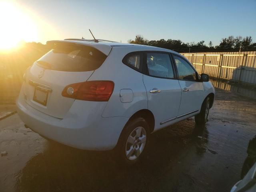
[(129, 39), (128, 43), (141, 44), (148, 46), (155, 46), (160, 48), (171, 49), (176, 52), (214, 52), (214, 51), (246, 51), (256, 50), (256, 43), (252, 42), (251, 36), (228, 36), (222, 38), (219, 45), (214, 46), (212, 41), (209, 42), (208, 46), (204, 43), (204, 40), (200, 42), (185, 43), (181, 40), (173, 39), (160, 39), (160, 40), (147, 40), (142, 35), (136, 35), (135, 39)]

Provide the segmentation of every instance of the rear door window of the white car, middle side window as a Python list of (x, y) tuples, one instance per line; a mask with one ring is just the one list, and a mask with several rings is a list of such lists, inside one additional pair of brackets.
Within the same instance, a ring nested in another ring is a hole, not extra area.
[(174, 78), (169, 54), (147, 53), (148, 74), (160, 78)]

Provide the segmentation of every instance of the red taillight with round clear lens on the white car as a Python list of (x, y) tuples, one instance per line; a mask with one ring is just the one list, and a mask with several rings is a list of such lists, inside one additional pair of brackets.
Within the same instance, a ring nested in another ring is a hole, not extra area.
[(108, 101), (113, 90), (112, 81), (86, 81), (66, 86), (62, 96), (86, 101)]

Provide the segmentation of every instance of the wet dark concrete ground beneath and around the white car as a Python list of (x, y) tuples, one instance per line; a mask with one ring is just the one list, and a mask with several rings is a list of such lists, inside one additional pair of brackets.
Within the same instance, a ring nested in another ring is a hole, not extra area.
[(111, 152), (48, 142), (14, 114), (0, 120), (0, 152), (8, 152), (0, 157), (0, 192), (226, 192), (240, 180), (254, 135), (256, 101), (216, 90), (205, 127), (190, 118), (152, 134), (147, 158), (126, 168)]

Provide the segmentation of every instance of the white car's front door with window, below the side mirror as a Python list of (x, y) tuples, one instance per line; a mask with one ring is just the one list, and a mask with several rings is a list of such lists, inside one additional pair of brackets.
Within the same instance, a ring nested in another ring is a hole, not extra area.
[(192, 65), (176, 54), (172, 54), (178, 81), (182, 89), (178, 117), (198, 112), (202, 106), (203, 84), (198, 81), (198, 75)]

